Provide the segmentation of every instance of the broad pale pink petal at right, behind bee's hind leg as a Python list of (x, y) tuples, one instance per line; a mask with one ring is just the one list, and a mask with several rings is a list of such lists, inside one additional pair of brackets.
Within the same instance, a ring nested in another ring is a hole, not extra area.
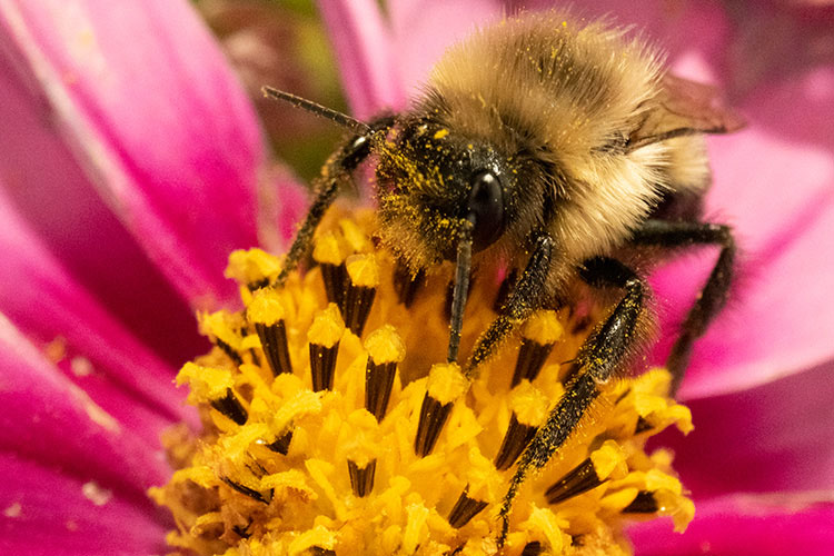
[[(790, 107), (800, 105), (795, 117)], [(708, 214), (737, 230), (739, 280), (695, 346), (683, 397), (747, 388), (834, 357), (834, 272), (821, 257), (834, 252), (834, 137), (825, 123), (834, 113), (834, 69), (762, 91), (747, 106), (748, 130), (712, 140), (716, 182), (707, 198)], [(672, 309), (667, 322), (683, 318), (705, 264), (699, 274), (674, 265), (655, 280)]]

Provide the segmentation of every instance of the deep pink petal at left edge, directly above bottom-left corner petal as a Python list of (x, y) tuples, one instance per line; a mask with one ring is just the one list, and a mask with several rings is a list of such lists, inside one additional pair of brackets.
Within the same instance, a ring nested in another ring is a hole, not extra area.
[(4, 318), (0, 320), (0, 451), (95, 478), (127, 499), (168, 475), (161, 448), (135, 431), (63, 377)]

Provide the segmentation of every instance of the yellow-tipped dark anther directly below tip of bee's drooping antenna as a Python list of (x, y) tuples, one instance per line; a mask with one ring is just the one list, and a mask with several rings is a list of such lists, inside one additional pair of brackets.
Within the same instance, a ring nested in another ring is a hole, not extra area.
[(466, 394), (468, 386), (469, 381), (457, 364), (436, 364), (431, 367), (414, 440), (415, 454), (426, 457), (431, 453), (453, 404)]

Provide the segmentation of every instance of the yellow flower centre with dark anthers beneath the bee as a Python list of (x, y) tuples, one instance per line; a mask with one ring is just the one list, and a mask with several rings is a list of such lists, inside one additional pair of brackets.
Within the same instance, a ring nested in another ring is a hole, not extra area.
[[(512, 446), (563, 395), (563, 363), (587, 336), (588, 315), (534, 314), (467, 378), (446, 361), (450, 266), (411, 277), (375, 247), (374, 229), (371, 212), (331, 210), (315, 266), (280, 289), (269, 286), (280, 258), (230, 256), (246, 308), (200, 315), (216, 347), (177, 384), (190, 388), (202, 430), (165, 435), (176, 471), (150, 493), (173, 515), (173, 549), (625, 555), (628, 522), (668, 516), (686, 528), (694, 506), (671, 454), (645, 444), (671, 425), (688, 433), (691, 416), (668, 397), (668, 373), (653, 369), (600, 387), (578, 430), (522, 485), (499, 549)], [(474, 280), (464, 356), (496, 317), (498, 290), (485, 274)], [(418, 431), (421, 411), (443, 413), (438, 430)]]

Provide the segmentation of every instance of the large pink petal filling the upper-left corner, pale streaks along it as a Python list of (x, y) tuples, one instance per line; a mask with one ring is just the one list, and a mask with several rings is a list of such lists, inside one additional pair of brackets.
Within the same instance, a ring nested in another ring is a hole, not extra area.
[(264, 153), (252, 108), (190, 6), (2, 6), (44, 116), (122, 222), (192, 304), (231, 298), (222, 269), (230, 250), (256, 244)]

